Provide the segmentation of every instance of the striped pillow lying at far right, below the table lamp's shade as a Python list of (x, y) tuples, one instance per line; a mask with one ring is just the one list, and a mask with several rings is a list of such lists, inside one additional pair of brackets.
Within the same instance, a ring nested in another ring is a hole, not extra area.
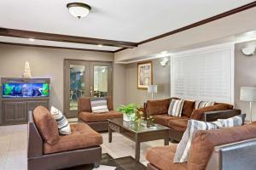
[(218, 119), (224, 127), (240, 127), (244, 123), (245, 114), (239, 116), (233, 116), (228, 119)]

